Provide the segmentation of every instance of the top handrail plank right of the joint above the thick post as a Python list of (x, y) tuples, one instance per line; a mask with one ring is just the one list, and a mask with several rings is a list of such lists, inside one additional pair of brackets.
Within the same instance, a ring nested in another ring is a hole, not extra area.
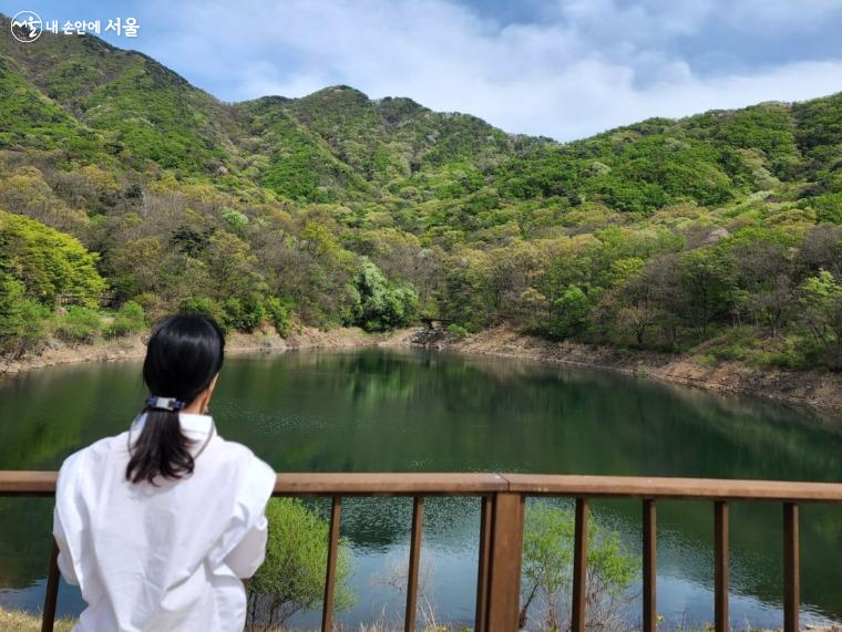
[(528, 495), (710, 500), (842, 501), (842, 484), (639, 476), (504, 474), (510, 491)]

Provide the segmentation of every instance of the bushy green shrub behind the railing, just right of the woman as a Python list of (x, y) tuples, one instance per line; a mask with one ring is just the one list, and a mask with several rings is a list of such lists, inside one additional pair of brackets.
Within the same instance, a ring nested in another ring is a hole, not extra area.
[[(299, 498), (273, 498), (266, 507), (266, 517), (269, 521), (266, 561), (248, 583), (251, 623), (283, 625), (295, 613), (321, 604), (328, 524)], [(341, 539), (333, 595), (337, 610), (353, 604), (348, 586), (350, 573), (350, 548)], [(259, 621), (254, 613), (258, 613)]]

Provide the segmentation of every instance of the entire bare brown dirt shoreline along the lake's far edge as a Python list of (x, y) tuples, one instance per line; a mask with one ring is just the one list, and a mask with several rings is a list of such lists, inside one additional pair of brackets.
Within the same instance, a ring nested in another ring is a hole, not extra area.
[[(463, 340), (429, 335), (425, 330), (417, 328), (388, 334), (369, 334), (357, 328), (321, 331), (298, 327), (286, 339), (274, 330), (250, 334), (233, 333), (227, 340), (226, 351), (237, 354), (353, 346), (430, 346), (459, 353), (522, 358), (842, 412), (842, 374), (824, 371), (759, 371), (733, 362), (706, 366), (688, 356), (648, 351), (623, 352), (573, 342), (553, 342), (505, 325), (468, 335)], [(81, 345), (50, 341), (39, 355), (14, 361), (0, 360), (0, 376), (60, 364), (137, 359), (143, 358), (144, 352), (145, 335)]]

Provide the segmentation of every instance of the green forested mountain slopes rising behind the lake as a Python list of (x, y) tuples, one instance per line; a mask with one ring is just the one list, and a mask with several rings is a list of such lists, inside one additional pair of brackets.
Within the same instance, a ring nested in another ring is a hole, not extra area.
[(842, 364), (842, 94), (561, 144), (348, 86), (223, 103), (93, 37), (0, 32), (6, 353), (181, 307)]

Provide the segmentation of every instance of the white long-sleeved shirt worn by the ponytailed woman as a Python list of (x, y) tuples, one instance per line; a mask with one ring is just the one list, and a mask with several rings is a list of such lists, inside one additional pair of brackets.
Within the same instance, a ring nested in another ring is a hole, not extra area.
[[(133, 426), (131, 441), (144, 417)], [(207, 439), (213, 419), (179, 415)], [(246, 593), (266, 555), (266, 503), (275, 472), (251, 450), (214, 435), (178, 480), (125, 478), (129, 434), (68, 457), (59, 473), (53, 535), (64, 579), (89, 607), (78, 632), (242, 631)]]

